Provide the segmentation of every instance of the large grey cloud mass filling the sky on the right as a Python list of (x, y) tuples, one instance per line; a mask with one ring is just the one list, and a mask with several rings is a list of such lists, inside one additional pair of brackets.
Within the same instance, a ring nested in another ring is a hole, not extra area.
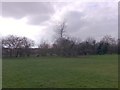
[(68, 33), (75, 37), (96, 39), (104, 35), (112, 35), (117, 38), (117, 8), (114, 4), (85, 3), (83, 12), (70, 11), (67, 17)]

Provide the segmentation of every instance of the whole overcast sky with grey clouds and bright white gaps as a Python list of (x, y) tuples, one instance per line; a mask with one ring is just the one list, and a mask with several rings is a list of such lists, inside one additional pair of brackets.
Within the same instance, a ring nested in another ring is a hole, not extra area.
[[(0, 4), (1, 5), (1, 4)], [(55, 26), (65, 20), (69, 36), (100, 39), (118, 36), (118, 2), (2, 2), (0, 33), (54, 40)]]

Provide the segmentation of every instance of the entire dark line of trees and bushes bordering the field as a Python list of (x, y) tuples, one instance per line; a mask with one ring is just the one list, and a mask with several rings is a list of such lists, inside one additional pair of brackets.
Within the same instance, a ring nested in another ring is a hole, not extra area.
[(37, 48), (35, 43), (27, 37), (9, 35), (2, 38), (3, 57), (24, 57), (24, 56), (66, 56), (74, 57), (80, 55), (104, 55), (120, 53), (120, 39), (106, 35), (100, 41), (88, 38), (84, 41), (77, 40), (65, 35), (65, 22), (57, 26), (55, 42), (51, 45), (42, 42)]

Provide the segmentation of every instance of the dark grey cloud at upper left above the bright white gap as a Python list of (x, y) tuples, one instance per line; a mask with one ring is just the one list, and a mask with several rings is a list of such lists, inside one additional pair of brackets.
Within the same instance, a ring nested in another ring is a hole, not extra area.
[(54, 13), (51, 3), (47, 2), (3, 2), (3, 17), (21, 19), (28, 17), (31, 24), (40, 24), (49, 20)]

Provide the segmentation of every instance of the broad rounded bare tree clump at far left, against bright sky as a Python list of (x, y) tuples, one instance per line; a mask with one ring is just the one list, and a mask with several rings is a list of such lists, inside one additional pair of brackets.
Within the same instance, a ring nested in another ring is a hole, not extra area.
[(3, 50), (6, 50), (10, 57), (18, 57), (26, 54), (29, 56), (28, 51), (33, 45), (33, 41), (26, 37), (9, 35), (2, 39)]

